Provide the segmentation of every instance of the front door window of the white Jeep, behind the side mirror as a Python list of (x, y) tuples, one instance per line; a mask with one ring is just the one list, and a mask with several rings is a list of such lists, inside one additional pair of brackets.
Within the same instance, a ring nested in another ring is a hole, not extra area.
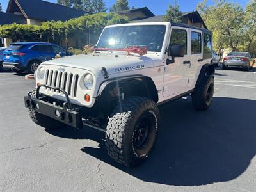
[(172, 29), (170, 45), (184, 45), (187, 54), (187, 31), (182, 29)]

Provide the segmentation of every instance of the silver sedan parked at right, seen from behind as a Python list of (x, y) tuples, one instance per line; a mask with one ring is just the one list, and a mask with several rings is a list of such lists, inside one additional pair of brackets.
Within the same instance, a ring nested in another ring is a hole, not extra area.
[(223, 60), (222, 68), (243, 68), (248, 71), (253, 66), (253, 59), (249, 52), (230, 52)]

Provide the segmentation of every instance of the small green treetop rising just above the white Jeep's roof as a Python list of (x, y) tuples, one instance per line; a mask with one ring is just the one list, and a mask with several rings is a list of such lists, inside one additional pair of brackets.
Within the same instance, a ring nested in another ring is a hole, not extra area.
[(172, 6), (169, 5), (169, 9), (164, 15), (164, 21), (166, 22), (182, 22), (182, 12), (180, 11), (180, 6), (175, 4)]

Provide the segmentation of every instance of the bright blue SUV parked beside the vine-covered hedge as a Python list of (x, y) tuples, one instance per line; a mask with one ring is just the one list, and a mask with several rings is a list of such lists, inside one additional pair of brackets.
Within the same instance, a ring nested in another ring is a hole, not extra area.
[(25, 70), (29, 73), (34, 73), (42, 61), (52, 60), (56, 54), (60, 54), (60, 56), (70, 55), (67, 50), (51, 43), (14, 43), (3, 52), (3, 67), (12, 68), (17, 73)]

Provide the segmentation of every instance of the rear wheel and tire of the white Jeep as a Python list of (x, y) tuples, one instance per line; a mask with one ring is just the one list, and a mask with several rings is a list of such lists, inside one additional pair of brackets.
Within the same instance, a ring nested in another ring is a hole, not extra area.
[(192, 103), (195, 109), (204, 111), (209, 108), (214, 93), (214, 77), (206, 75), (196, 85), (192, 93)]

